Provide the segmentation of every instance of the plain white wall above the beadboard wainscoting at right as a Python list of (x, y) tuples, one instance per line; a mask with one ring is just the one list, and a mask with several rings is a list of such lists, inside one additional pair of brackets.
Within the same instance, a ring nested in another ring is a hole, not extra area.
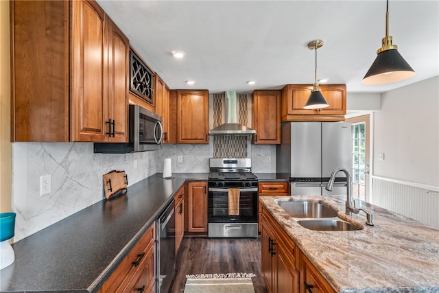
[(381, 94), (373, 158), (375, 176), (439, 186), (439, 76)]

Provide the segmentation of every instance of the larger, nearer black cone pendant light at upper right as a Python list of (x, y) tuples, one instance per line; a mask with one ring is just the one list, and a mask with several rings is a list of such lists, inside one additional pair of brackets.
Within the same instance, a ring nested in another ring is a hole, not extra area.
[(399, 54), (398, 46), (392, 45), (392, 36), (389, 36), (389, 0), (385, 12), (385, 37), (377, 54), (377, 58), (363, 78), (364, 84), (388, 84), (415, 75), (412, 67)]

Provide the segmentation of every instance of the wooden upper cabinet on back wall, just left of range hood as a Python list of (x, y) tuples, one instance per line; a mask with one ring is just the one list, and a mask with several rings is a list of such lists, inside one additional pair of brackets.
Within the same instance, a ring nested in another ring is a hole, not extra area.
[(177, 91), (177, 143), (209, 143), (209, 91)]

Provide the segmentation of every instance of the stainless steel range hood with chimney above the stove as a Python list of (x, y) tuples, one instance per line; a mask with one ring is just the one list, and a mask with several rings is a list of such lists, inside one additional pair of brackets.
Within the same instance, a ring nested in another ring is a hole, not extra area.
[(254, 134), (256, 130), (238, 124), (236, 91), (225, 92), (226, 123), (209, 130), (209, 134)]

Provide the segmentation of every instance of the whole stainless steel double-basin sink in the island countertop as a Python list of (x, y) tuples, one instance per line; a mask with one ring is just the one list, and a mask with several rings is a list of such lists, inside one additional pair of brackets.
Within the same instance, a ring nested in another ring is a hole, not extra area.
[(275, 200), (298, 224), (314, 231), (355, 231), (362, 227), (341, 220), (337, 210), (320, 202)]

